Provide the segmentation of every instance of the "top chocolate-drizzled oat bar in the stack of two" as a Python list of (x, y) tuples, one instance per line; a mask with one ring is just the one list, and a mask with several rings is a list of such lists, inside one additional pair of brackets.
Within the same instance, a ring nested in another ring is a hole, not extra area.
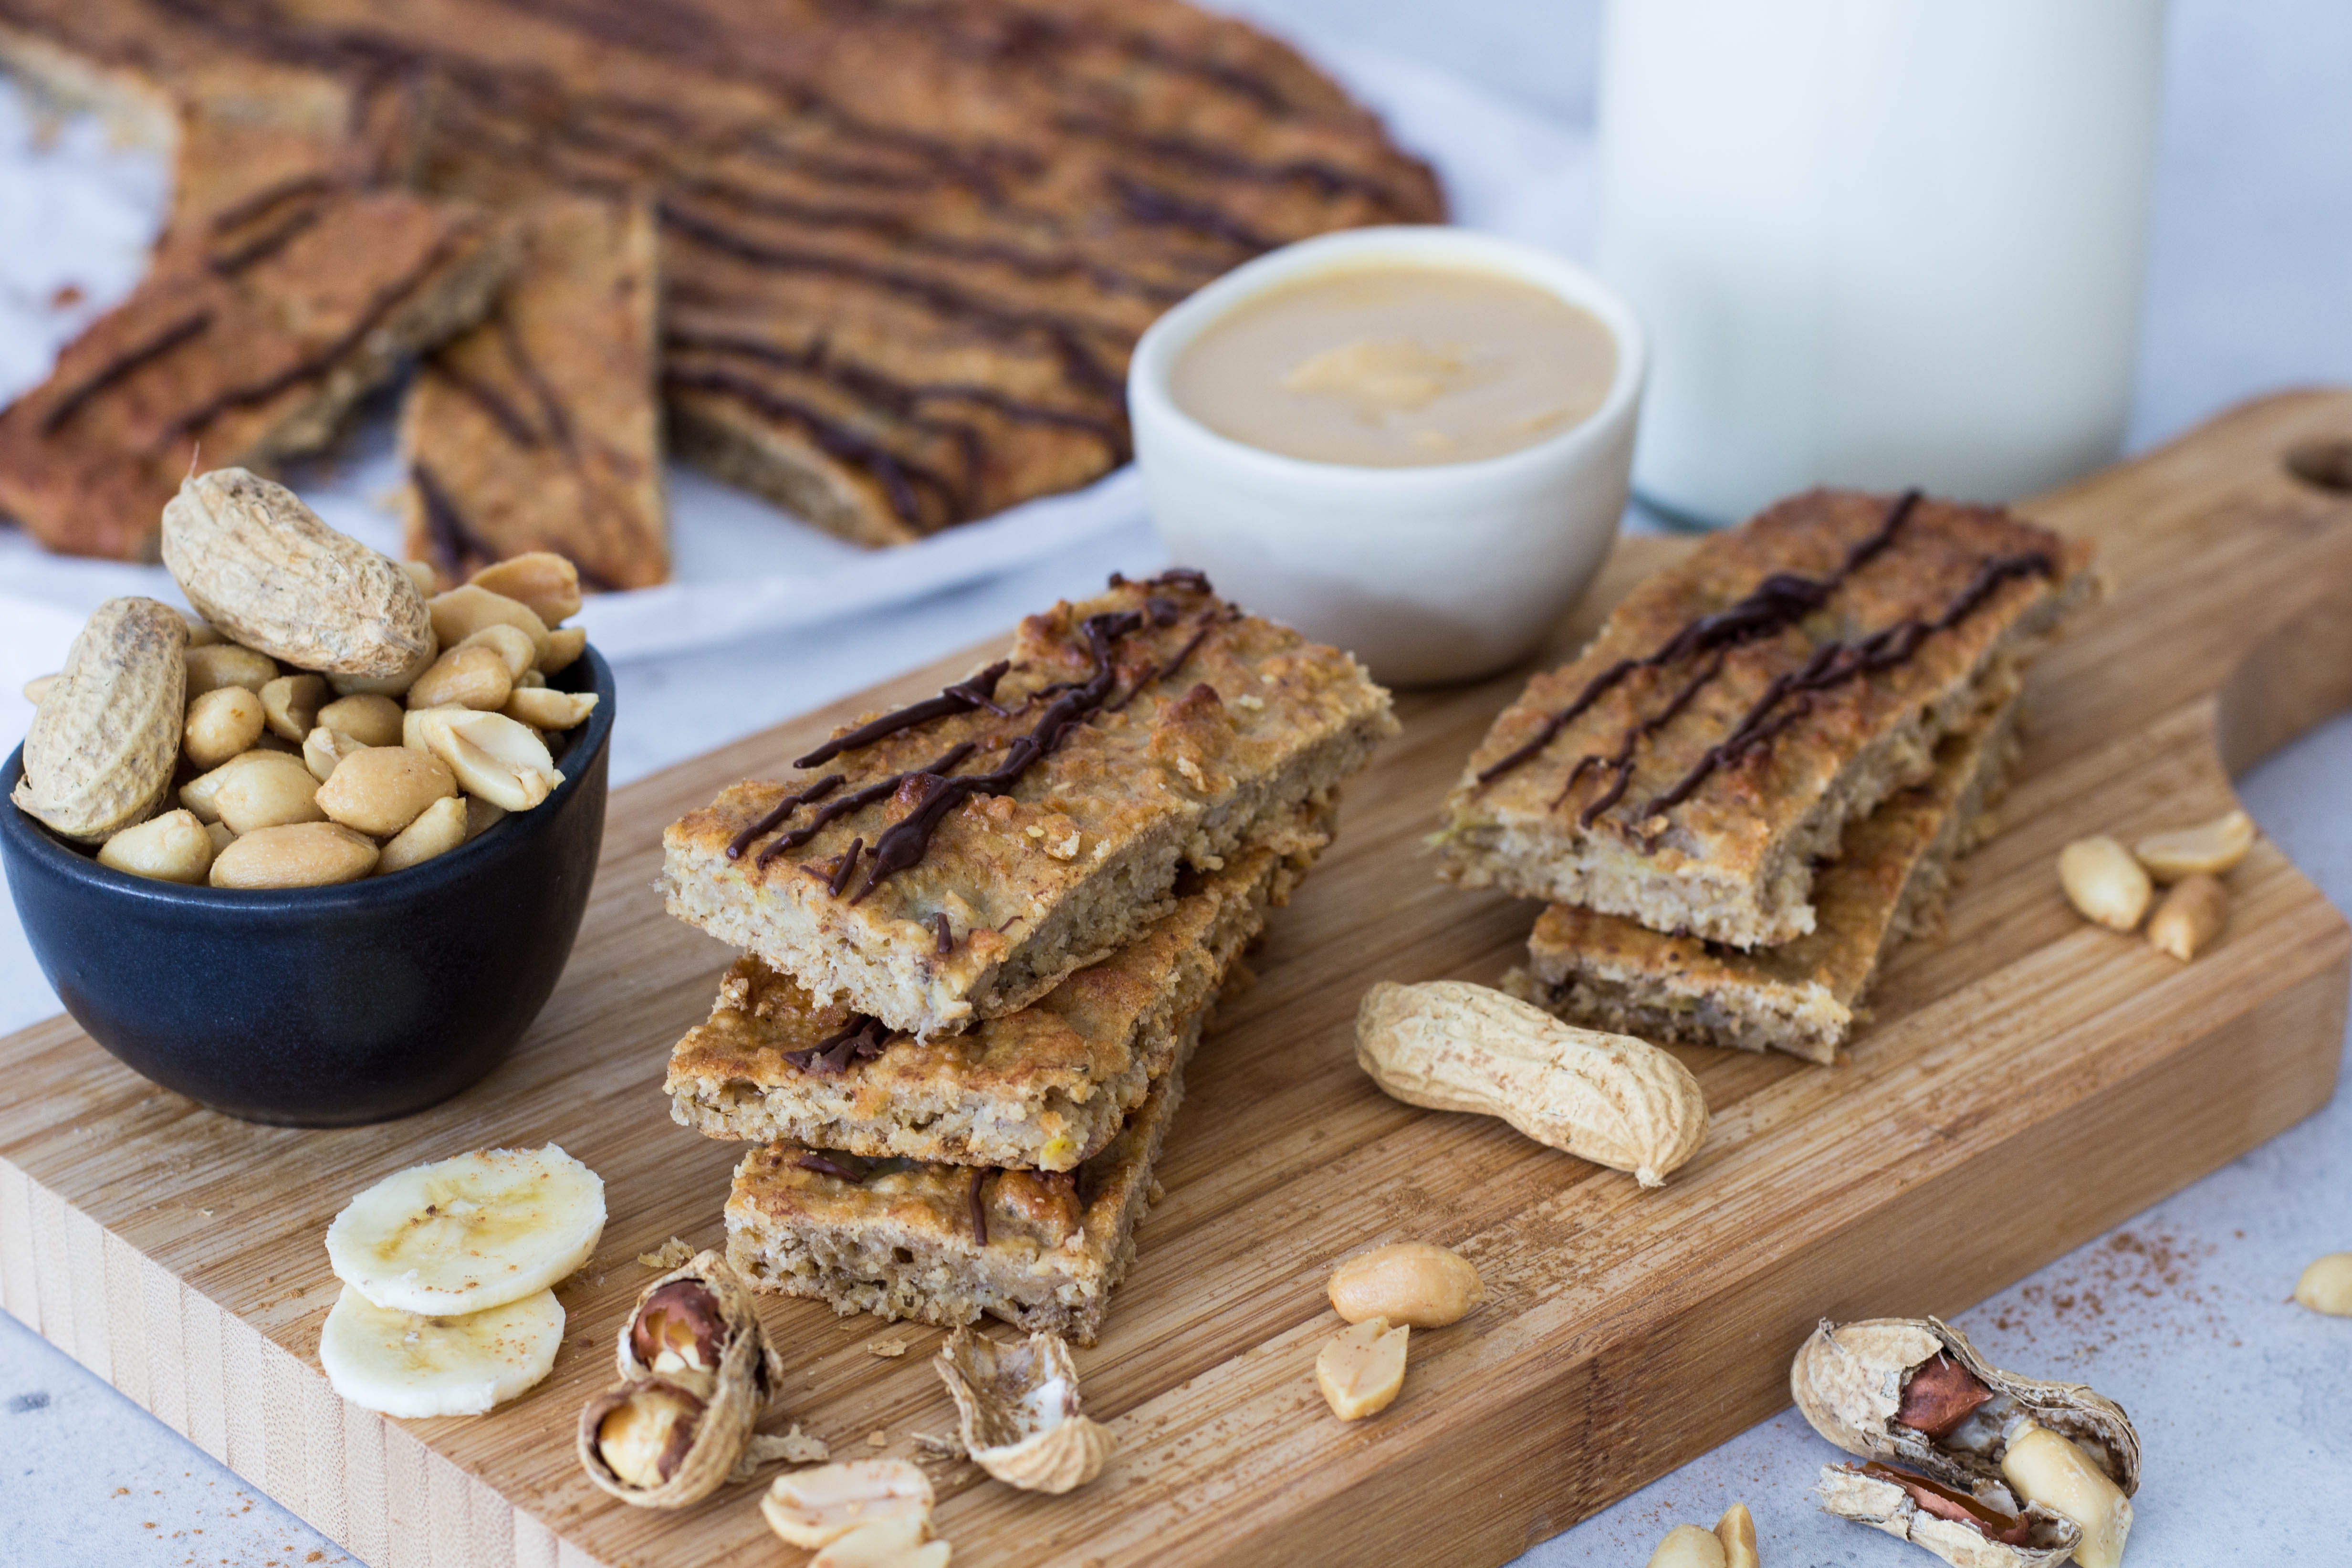
[(2093, 590), (2089, 545), (1999, 508), (1783, 501), (1503, 710), (1446, 797), (1442, 875), (1733, 947), (1804, 936), (1846, 823), (1924, 780)]

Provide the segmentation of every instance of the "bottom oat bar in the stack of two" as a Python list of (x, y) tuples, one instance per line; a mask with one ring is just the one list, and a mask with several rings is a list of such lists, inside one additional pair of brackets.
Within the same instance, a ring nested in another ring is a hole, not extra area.
[(1835, 1060), (1879, 964), (1940, 914), (1952, 863), (1987, 832), (2016, 755), (2016, 710), (2011, 679), (1990, 717), (1945, 738), (1924, 785), (1846, 830), (1844, 853), (1813, 877), (1818, 924), (1806, 936), (1738, 952), (1555, 903), (1503, 990), (1611, 1034)]

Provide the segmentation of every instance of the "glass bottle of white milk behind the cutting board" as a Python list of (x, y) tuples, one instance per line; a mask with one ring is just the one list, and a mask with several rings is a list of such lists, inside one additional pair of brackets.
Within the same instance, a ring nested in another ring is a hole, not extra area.
[(2164, 0), (1611, 0), (1599, 270), (1651, 331), (1635, 489), (2009, 501), (2131, 404)]

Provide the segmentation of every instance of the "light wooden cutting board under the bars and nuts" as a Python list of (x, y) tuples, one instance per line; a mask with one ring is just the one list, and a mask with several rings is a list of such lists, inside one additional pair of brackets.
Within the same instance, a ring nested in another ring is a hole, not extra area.
[[(1715, 1121), (1663, 1192), (1501, 1121), (1409, 1110), (1357, 1072), (1367, 983), (1496, 980), (1534, 919), (1439, 886), (1421, 849), (1522, 675), (1404, 698), (1404, 736), (1350, 785), (1336, 849), (1192, 1065), (1167, 1197), (1080, 1356), (1112, 1469), (1056, 1500), (934, 1467), (957, 1566), (1503, 1561), (1780, 1408), (1813, 1319), (1959, 1312), (2319, 1107), (2352, 931), (2267, 842), (2232, 875), (2227, 936), (2187, 966), (2077, 919), (2053, 860), (2086, 832), (2227, 809), (2232, 771), (2352, 705), (2352, 494), (2286, 465), (2300, 451), (2352, 482), (2324, 449), (2347, 437), (2352, 393), (2281, 395), (2025, 508), (2098, 538), (2114, 595), (2034, 670), (2006, 830), (1966, 865), (1945, 933), (1889, 966), (1849, 1060), (1682, 1051)], [(1625, 541), (1559, 654), (1677, 548)], [(635, 1255), (717, 1241), (736, 1159), (661, 1098), (727, 950), (661, 912), (659, 839), (720, 785), (969, 663), (616, 792), (562, 987), (510, 1065), (435, 1112), (245, 1126), (71, 1020), (0, 1041), (0, 1302), (372, 1563), (800, 1561), (753, 1486), (637, 1512), (572, 1455), (649, 1279)], [(473, 1420), (346, 1408), (318, 1371), (334, 1211), (393, 1168), (550, 1138), (612, 1201), (560, 1293), (555, 1375)], [(1468, 1253), (1489, 1302), (1416, 1333), (1402, 1399), (1341, 1425), (1310, 1371), (1338, 1328), (1324, 1274), (1404, 1237)], [(835, 1453), (877, 1453), (880, 1432), (910, 1455), (913, 1432), (953, 1425), (936, 1331), (786, 1300), (764, 1319), (790, 1415)], [(913, 1347), (880, 1359), (877, 1338)]]

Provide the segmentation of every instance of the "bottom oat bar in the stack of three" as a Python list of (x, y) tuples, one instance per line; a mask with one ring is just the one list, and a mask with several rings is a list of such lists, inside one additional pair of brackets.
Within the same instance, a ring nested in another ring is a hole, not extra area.
[(1183, 1058), (1075, 1171), (997, 1171), (771, 1143), (736, 1166), (727, 1260), (753, 1286), (922, 1324), (983, 1314), (1094, 1345), (1136, 1258), (1152, 1161), (1183, 1100)]

